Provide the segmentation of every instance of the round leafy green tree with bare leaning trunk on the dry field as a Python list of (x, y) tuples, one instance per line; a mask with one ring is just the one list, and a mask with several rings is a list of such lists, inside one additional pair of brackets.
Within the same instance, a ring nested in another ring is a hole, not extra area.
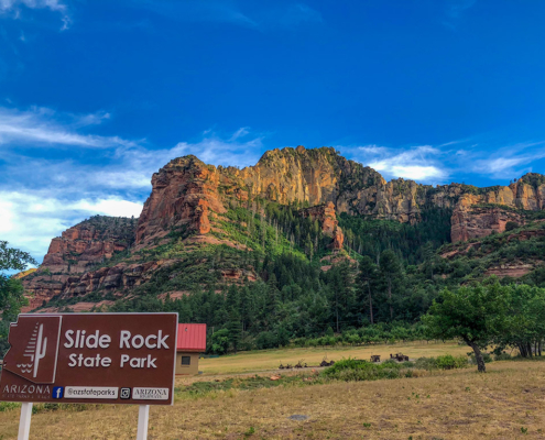
[(488, 286), (442, 290), (428, 312), (422, 317), (426, 332), (434, 339), (456, 339), (466, 342), (475, 353), (479, 372), (484, 373), (481, 350), (506, 327), (506, 289), (494, 283)]

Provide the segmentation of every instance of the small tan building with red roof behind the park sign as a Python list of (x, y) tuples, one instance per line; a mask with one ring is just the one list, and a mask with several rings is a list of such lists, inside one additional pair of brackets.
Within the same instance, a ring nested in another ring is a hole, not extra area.
[(198, 355), (206, 351), (206, 323), (178, 323), (176, 374), (198, 374)]

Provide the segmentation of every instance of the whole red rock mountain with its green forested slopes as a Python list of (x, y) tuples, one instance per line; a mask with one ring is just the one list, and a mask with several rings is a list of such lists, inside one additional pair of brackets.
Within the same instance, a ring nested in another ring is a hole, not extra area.
[(222, 354), (421, 340), (443, 289), (545, 287), (537, 174), (488, 188), (386, 183), (334, 148), (298, 146), (243, 169), (179, 157), (152, 185), (138, 224), (94, 217), (53, 240), (22, 278), (33, 308), (177, 311)]

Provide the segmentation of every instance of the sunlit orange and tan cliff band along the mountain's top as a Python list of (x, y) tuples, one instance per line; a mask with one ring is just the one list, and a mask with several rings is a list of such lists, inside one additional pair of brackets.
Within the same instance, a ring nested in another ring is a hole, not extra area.
[[(513, 209), (545, 208), (545, 177), (538, 174), (490, 188), (433, 187), (403, 178), (386, 183), (374, 169), (346, 160), (331, 147), (301, 145), (268, 151), (258, 164), (243, 169), (206, 165), (195, 156), (176, 158), (153, 175), (152, 185), (138, 226), (139, 245), (172, 230), (206, 234), (210, 220), (224, 213), (229, 202), (255, 197), (310, 207), (330, 204), (338, 213), (411, 223), (419, 221), (423, 209), (448, 208), (454, 212), (454, 241), (502, 231), (508, 221), (521, 222)], [(341, 231), (330, 233), (341, 245)]]

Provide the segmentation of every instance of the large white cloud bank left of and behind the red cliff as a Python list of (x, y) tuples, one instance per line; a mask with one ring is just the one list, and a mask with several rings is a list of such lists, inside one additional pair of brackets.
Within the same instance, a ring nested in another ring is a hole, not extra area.
[[(207, 130), (197, 141), (165, 148), (78, 133), (110, 118), (103, 111), (0, 111), (0, 239), (41, 261), (52, 238), (85, 218), (139, 216), (152, 174), (168, 161), (194, 154), (215, 165), (251, 165), (263, 147), (262, 135), (249, 128), (227, 134)], [(47, 152), (36, 145), (47, 145)], [(51, 154), (51, 148), (63, 150)]]

